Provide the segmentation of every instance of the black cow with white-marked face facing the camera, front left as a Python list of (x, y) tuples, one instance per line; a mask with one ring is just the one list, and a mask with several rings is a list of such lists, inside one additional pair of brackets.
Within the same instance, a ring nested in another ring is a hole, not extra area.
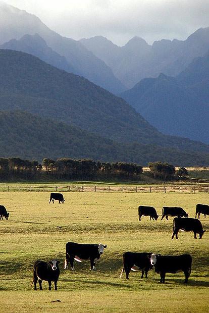
[[(42, 280), (45, 280), (48, 282), (48, 290), (51, 290), (51, 282), (55, 282), (55, 290), (58, 290), (57, 288), (57, 281), (60, 276), (60, 269), (58, 264), (60, 261), (53, 259), (52, 261), (49, 261), (48, 263), (44, 261), (37, 260), (33, 266), (33, 282), (34, 282), (34, 290), (37, 290), (36, 284), (37, 281), (40, 286), (40, 290), (42, 289)], [(32, 282), (32, 284), (33, 284)]]

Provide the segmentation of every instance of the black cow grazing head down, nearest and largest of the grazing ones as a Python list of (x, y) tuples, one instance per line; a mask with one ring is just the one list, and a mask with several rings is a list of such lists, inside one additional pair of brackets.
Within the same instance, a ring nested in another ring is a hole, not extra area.
[(205, 230), (202, 229), (202, 224), (199, 220), (188, 218), (175, 218), (173, 222), (173, 234), (172, 239), (174, 239), (174, 235), (176, 235), (176, 239), (178, 238), (179, 230), (183, 232), (191, 232), (194, 233), (194, 238), (197, 239), (197, 234), (199, 234), (199, 239), (202, 238)]

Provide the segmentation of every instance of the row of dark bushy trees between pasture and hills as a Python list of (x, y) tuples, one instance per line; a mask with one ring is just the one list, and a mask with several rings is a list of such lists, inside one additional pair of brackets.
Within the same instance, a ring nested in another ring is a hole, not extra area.
[[(173, 165), (162, 162), (149, 163), (150, 173), (154, 178), (172, 180), (187, 175), (185, 168), (175, 170)], [(99, 162), (91, 159), (73, 160), (36, 160), (21, 158), (0, 158), (0, 180), (126, 180), (138, 181), (143, 168), (134, 163)]]

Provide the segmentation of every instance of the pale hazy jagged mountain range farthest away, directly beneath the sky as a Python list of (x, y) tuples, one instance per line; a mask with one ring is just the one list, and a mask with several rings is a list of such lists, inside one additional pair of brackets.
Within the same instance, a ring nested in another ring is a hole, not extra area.
[(195, 57), (202, 57), (209, 49), (209, 28), (198, 29), (184, 41), (162, 39), (152, 45), (137, 36), (122, 47), (101, 36), (80, 41), (131, 88), (141, 79), (160, 73), (176, 76)]

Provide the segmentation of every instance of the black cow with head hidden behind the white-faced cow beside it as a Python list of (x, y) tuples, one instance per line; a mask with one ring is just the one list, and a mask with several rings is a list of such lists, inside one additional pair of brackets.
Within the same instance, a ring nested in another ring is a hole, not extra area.
[(150, 265), (149, 258), (151, 256), (152, 252), (125, 252), (123, 253), (123, 269), (121, 272), (120, 278), (122, 278), (123, 272), (125, 270), (126, 272), (126, 279), (129, 279), (129, 273), (130, 271), (137, 271), (141, 270), (141, 278), (144, 277), (145, 272), (145, 278), (147, 278), (147, 273), (149, 269), (152, 269), (152, 265)]

